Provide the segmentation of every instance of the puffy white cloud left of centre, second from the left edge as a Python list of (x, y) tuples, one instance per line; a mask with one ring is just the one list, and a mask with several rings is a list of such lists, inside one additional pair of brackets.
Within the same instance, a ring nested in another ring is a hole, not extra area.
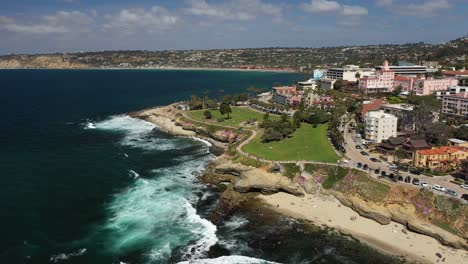
[(123, 9), (116, 15), (106, 16), (107, 22), (103, 29), (123, 30), (122, 33), (134, 33), (138, 30), (155, 32), (172, 28), (180, 21), (180, 17), (167, 9), (153, 6), (149, 10), (143, 8)]

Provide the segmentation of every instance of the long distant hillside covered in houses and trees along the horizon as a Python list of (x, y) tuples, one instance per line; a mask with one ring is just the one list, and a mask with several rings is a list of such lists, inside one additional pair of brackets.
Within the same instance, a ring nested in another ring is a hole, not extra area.
[(444, 44), (412, 43), (323, 48), (258, 48), (172, 51), (103, 51), (68, 54), (0, 56), (0, 68), (292, 68), (380, 65), (405, 60), (435, 61), (445, 67), (468, 68), (468, 37)]

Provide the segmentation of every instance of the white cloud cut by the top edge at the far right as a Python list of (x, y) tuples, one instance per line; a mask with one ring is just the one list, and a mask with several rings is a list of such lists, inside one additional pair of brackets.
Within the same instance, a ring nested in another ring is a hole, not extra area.
[(452, 7), (448, 0), (425, 0), (422, 3), (377, 0), (377, 5), (397, 14), (419, 17), (435, 16), (438, 15), (441, 11), (450, 9)]

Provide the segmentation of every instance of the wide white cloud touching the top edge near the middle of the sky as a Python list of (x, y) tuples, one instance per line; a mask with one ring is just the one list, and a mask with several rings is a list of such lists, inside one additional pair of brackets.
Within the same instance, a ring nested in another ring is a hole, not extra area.
[(185, 12), (196, 16), (205, 16), (219, 20), (253, 20), (257, 16), (267, 15), (275, 19), (282, 17), (282, 8), (267, 4), (262, 0), (231, 0), (223, 4), (209, 4), (206, 0), (187, 0), (189, 7)]

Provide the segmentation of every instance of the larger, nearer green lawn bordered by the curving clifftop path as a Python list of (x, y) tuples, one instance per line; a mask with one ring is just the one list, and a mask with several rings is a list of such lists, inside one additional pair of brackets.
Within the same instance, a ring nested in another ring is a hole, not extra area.
[(335, 163), (339, 157), (327, 138), (327, 125), (303, 123), (292, 137), (282, 141), (261, 142), (261, 133), (243, 147), (245, 152), (268, 160), (313, 160)]

